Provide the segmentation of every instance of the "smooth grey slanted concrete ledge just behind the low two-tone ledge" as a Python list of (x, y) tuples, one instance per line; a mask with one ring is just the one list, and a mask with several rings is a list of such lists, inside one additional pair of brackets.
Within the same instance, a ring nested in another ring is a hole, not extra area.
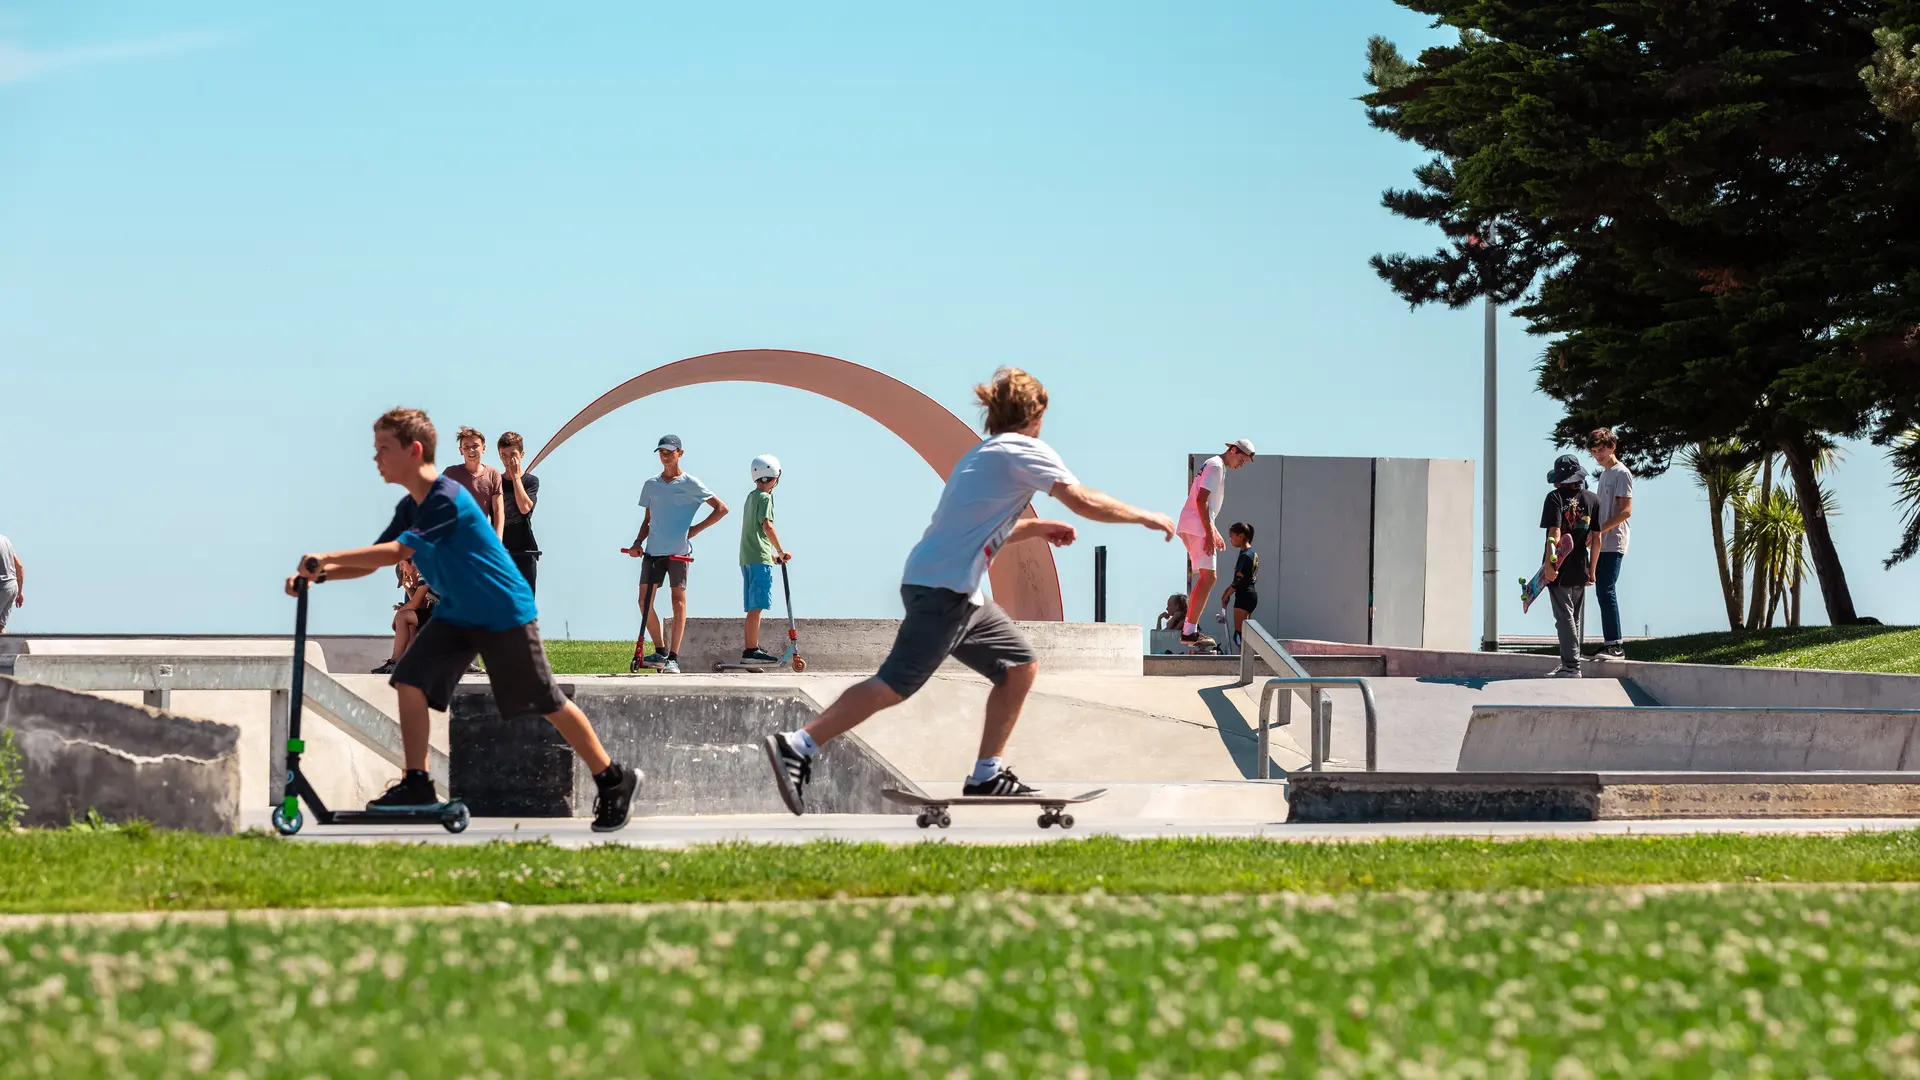
[(1920, 711), (1476, 705), (1463, 773), (1908, 771)]

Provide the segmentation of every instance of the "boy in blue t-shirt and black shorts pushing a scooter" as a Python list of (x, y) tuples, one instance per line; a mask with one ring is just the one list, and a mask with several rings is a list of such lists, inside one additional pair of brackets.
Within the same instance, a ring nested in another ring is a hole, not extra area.
[[(480, 503), (434, 467), (436, 442), (434, 423), (420, 409), (392, 409), (374, 421), (374, 467), (382, 480), (407, 488), (394, 507), (394, 521), (372, 548), (301, 555), (300, 569), (286, 578), (286, 592), (294, 594), (300, 578), (315, 584), (357, 578), (413, 559), (440, 596), (434, 617), (407, 646), (390, 680), (399, 692), (399, 738), (407, 751), (407, 771), (367, 809), (440, 803), (434, 780), (426, 774), (432, 723), (428, 709), (447, 707), (453, 688), (474, 655), (480, 655), (501, 715), (543, 715), (593, 773), (599, 788), (593, 830), (624, 828), (639, 788), (639, 769), (607, 757), (586, 713), (561, 694), (540, 644), (534, 590), (513, 565)], [(319, 571), (307, 571), (309, 559), (317, 559)]]

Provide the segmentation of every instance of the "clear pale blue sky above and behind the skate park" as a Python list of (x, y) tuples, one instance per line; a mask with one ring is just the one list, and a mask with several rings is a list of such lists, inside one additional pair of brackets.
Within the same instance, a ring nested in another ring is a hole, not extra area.
[[(371, 540), (399, 494), (369, 459), (388, 405), (538, 446), (726, 348), (866, 363), (968, 419), (972, 382), (1027, 367), (1075, 471), (1169, 513), (1185, 454), (1235, 436), (1478, 457), (1478, 311), (1407, 311), (1367, 269), (1432, 242), (1379, 206), (1419, 154), (1354, 102), (1371, 33), (1434, 40), (1386, 0), (0, 8), (12, 628), (282, 630), (294, 557)], [(1538, 342), (1503, 321), (1501, 350), (1505, 578), (1538, 548), (1555, 407)], [(858, 413), (730, 384), (541, 469), (549, 636), (632, 636), (614, 550), (664, 430), (735, 505), (781, 455), (801, 615), (897, 613), (937, 479)], [(1834, 528), (1860, 611), (1916, 623), (1920, 571), (1880, 571), (1885, 480), (1853, 448)], [(737, 613), (720, 532), (695, 615)], [(1081, 536), (1069, 617), (1094, 544), (1112, 617), (1181, 588), (1177, 548)], [(394, 598), (328, 588), (313, 625), (376, 632)], [(1640, 488), (1622, 603), (1634, 632), (1718, 621), (1684, 475)]]

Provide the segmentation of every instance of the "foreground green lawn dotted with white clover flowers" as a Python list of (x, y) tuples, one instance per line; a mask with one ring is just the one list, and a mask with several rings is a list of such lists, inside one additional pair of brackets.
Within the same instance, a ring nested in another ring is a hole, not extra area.
[(0, 1076), (1899, 1076), (1889, 888), (0, 934)]

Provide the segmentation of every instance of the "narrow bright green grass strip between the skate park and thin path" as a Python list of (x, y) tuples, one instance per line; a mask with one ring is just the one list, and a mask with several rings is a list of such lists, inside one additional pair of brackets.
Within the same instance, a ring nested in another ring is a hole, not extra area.
[(816, 842), (685, 851), (142, 830), (0, 836), (0, 913), (1914, 880), (1920, 830), (1361, 844), (1094, 836), (1006, 847)]

